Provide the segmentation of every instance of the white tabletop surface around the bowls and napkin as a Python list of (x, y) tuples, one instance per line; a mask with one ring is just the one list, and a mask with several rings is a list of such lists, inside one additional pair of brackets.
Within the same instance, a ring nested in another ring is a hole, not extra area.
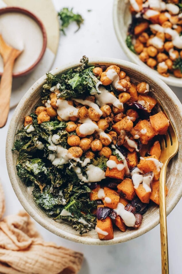
[[(46, 0), (45, 0), (46, 1)], [(70, 26), (66, 36), (61, 35), (60, 46), (53, 68), (69, 61), (78, 61), (82, 55), (88, 57), (114, 57), (127, 60), (116, 39), (112, 23), (111, 0), (53, 0), (57, 10), (74, 7), (85, 18), (84, 25), (74, 33), (76, 25)], [(91, 10), (91, 12), (87, 12)], [(179, 88), (173, 88), (182, 100)], [(174, 110), (175, 111), (175, 110)], [(22, 209), (14, 194), (6, 170), (5, 140), (14, 110), (9, 113), (7, 125), (0, 129), (0, 178), (6, 198), (6, 214), (14, 214)], [(182, 200), (167, 217), (170, 274), (182, 273), (181, 264), (181, 208)], [(84, 253), (85, 260), (80, 274), (153, 274), (161, 273), (160, 227), (147, 234), (114, 246), (87, 246), (61, 239), (37, 224), (37, 228), (47, 241), (70, 247)], [(51, 273), (50, 273), (51, 274)]]

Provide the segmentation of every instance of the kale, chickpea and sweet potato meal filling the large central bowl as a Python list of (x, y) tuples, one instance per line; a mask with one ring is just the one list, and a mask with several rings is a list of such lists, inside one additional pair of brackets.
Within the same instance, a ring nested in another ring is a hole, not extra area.
[(110, 240), (113, 224), (138, 228), (150, 200), (159, 204), (156, 136), (169, 121), (153, 112), (148, 83), (136, 85), (117, 65), (87, 63), (83, 57), (60, 77), (47, 74), (42, 105), (17, 132), (16, 167), (49, 216)]

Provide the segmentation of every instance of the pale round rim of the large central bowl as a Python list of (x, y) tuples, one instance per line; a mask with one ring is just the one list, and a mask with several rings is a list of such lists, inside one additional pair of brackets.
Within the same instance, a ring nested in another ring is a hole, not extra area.
[[(137, 70), (137, 72), (139, 72), (142, 75), (149, 75), (150, 72), (144, 70), (143, 67), (140, 67), (136, 64), (133, 64), (129, 61), (124, 61), (121, 59), (114, 59), (114, 58), (90, 58), (89, 61), (89, 65), (96, 65), (96, 64), (107, 64), (107, 65), (112, 65), (112, 64), (118, 64), (120, 66), (124, 66), (126, 68), (132, 69), (134, 71)], [(51, 70), (50, 72), (52, 74), (59, 74), (64, 72), (65, 70), (68, 70), (72, 67), (76, 67), (78, 66), (79, 63), (78, 62), (71, 62), (68, 63), (67, 65), (63, 65), (59, 68), (55, 68), (54, 70)], [(6, 140), (6, 163), (7, 163), (7, 170), (8, 170), (8, 174), (9, 174), (9, 179), (11, 181), (12, 187), (14, 189), (14, 192), (18, 198), (18, 200), (20, 201), (20, 203), (22, 204), (22, 206), (24, 207), (24, 209), (30, 214), (30, 216), (35, 219), (35, 221), (37, 221), (41, 226), (43, 226), (44, 228), (46, 228), (47, 230), (49, 230), (50, 232), (64, 238), (70, 241), (74, 241), (77, 243), (83, 243), (83, 244), (87, 244), (87, 245), (114, 245), (117, 243), (122, 243), (125, 241), (129, 241), (131, 239), (134, 239), (136, 237), (141, 236), (142, 234), (148, 232), (149, 230), (151, 230), (152, 228), (154, 228), (157, 224), (159, 224), (160, 221), (160, 217), (159, 214), (155, 217), (155, 219), (150, 222), (149, 224), (145, 225), (145, 227), (140, 227), (139, 230), (133, 230), (131, 231), (130, 234), (124, 235), (122, 236), (121, 233), (121, 237), (117, 237), (114, 238), (112, 240), (109, 241), (101, 241), (99, 239), (93, 239), (93, 238), (84, 238), (81, 236), (77, 236), (74, 234), (70, 234), (68, 232), (66, 232), (65, 230), (60, 230), (59, 228), (57, 228), (56, 226), (54, 226), (53, 224), (49, 224), (48, 221), (46, 219), (44, 219), (43, 216), (41, 216), (41, 209), (39, 209), (40, 214), (37, 214), (37, 212), (32, 208), (32, 205), (26, 200), (19, 184), (18, 181), (16, 179), (16, 170), (14, 168), (12, 168), (13, 166), (13, 153), (12, 153), (12, 148), (11, 148), (11, 144), (12, 144), (12, 139), (14, 139), (14, 135), (15, 135), (15, 125), (17, 123), (17, 117), (19, 116), (19, 112), (22, 108), (24, 108), (25, 106), (25, 102), (27, 100), (27, 98), (31, 97), (33, 95), (33, 93), (35, 92), (35, 90), (39, 87), (42, 86), (43, 83), (45, 82), (45, 78), (46, 75), (43, 75), (39, 80), (37, 80), (35, 82), (34, 85), (32, 85), (32, 87), (30, 87), (30, 89), (26, 92), (26, 94), (24, 95), (24, 97), (21, 99), (21, 101), (19, 102), (18, 106), (16, 107), (16, 110), (13, 114), (13, 117), (10, 121), (10, 125), (8, 128), (8, 132), (7, 132), (7, 140)], [(154, 74), (150, 74), (150, 79), (155, 83), (157, 83), (158, 85), (160, 85), (160, 87), (165, 91), (165, 93), (171, 98), (171, 100), (173, 101), (173, 103), (176, 105), (176, 108), (178, 108), (178, 111), (180, 113), (181, 119), (182, 119), (182, 105), (181, 102), (179, 101), (179, 99), (177, 98), (177, 96), (173, 93), (173, 91), (159, 78), (156, 78), (156, 76)], [(172, 96), (171, 96), (172, 95)], [(167, 205), (166, 208), (166, 213), (167, 215), (173, 210), (173, 208), (176, 206), (177, 202), (179, 201), (179, 199), (182, 196), (182, 184), (181, 187), (179, 186), (178, 188), (178, 192), (177, 195), (175, 197), (173, 197), (170, 202)], [(158, 209), (159, 212), (159, 209)]]

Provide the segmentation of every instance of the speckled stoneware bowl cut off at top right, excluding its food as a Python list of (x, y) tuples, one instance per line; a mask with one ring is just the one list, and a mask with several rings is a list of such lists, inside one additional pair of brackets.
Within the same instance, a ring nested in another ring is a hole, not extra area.
[(175, 86), (175, 87), (182, 87), (182, 79), (176, 78), (172, 76), (164, 77), (160, 75), (156, 70), (153, 70), (145, 63), (143, 63), (139, 56), (133, 53), (128, 47), (125, 42), (127, 37), (127, 31), (129, 24), (131, 23), (131, 13), (129, 11), (129, 1), (126, 0), (114, 0), (113, 5), (113, 22), (114, 22), (114, 29), (116, 32), (116, 36), (120, 43), (120, 46), (124, 50), (125, 54), (128, 58), (135, 64), (140, 65), (144, 69), (147, 69), (150, 73), (153, 73), (155, 76), (162, 79), (166, 84)]

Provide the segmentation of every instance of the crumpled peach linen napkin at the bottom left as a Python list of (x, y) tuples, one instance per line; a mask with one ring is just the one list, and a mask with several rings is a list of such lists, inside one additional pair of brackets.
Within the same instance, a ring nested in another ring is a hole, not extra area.
[(45, 242), (26, 211), (1, 219), (4, 211), (0, 183), (0, 273), (78, 273), (83, 254)]

